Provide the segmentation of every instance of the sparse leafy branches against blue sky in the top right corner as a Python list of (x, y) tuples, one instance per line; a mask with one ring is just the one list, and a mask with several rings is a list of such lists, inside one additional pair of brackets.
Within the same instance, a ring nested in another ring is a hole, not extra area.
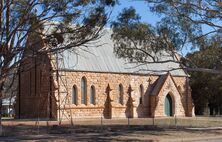
[[(150, 10), (163, 16), (160, 23), (173, 26), (186, 42), (202, 47), (222, 31), (221, 0), (144, 0)], [(207, 30), (206, 30), (207, 29)]]

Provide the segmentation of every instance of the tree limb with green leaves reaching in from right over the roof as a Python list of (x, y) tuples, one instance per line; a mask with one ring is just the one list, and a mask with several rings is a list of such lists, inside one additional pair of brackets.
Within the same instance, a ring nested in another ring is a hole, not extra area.
[[(115, 42), (115, 52), (117, 56), (128, 58), (131, 61), (134, 60), (140, 64), (153, 62), (177, 62), (181, 64), (181, 68), (179, 69), (216, 74), (222, 73), (220, 70), (215, 69), (190, 68), (190, 66), (188, 66), (191, 64), (190, 61), (183, 56), (180, 56), (179, 61), (158, 61), (156, 59), (156, 53), (158, 53), (158, 51), (165, 50), (169, 52), (172, 57), (174, 57), (176, 56), (175, 52), (183, 49), (185, 46), (191, 47), (192, 49), (195, 47), (198, 49), (205, 48), (208, 40), (212, 39), (211, 36), (217, 35), (218, 38), (221, 37), (221, 33), (219, 32), (220, 25), (217, 22), (215, 22), (215, 24), (209, 24), (207, 22), (207, 25), (211, 25), (211, 27), (214, 28), (214, 31), (206, 34), (202, 32), (202, 25), (205, 23), (203, 23), (203, 21), (200, 22), (199, 20), (195, 22), (195, 16), (193, 15), (195, 13), (193, 13), (193, 11), (187, 12), (187, 8), (182, 5), (179, 7), (181, 10), (179, 10), (180, 14), (178, 14), (177, 10), (173, 9), (175, 7), (167, 7), (168, 2), (171, 4), (171, 2), (176, 3), (181, 1), (174, 2), (148, 0), (147, 2), (150, 2), (149, 4), (151, 5), (151, 9), (154, 12), (158, 12), (159, 14), (163, 13), (165, 16), (154, 27), (147, 23), (141, 22), (140, 16), (136, 13), (134, 8), (125, 8), (122, 13), (119, 14), (117, 20), (112, 23), (112, 38)], [(154, 3), (153, 5), (152, 2)], [(177, 6), (179, 4), (175, 5)], [(193, 5), (194, 4), (191, 4), (191, 6)], [(161, 6), (163, 7), (162, 9)], [(220, 6), (220, 3), (218, 3), (216, 6)], [(158, 9), (160, 10), (158, 11)], [(191, 20), (188, 17), (194, 19)], [(218, 18), (220, 18), (220, 15), (211, 17), (208, 19), (208, 21), (213, 23)], [(192, 43), (193, 46), (191, 46), (189, 43)], [(220, 44), (221, 46), (220, 42), (217, 44)]]

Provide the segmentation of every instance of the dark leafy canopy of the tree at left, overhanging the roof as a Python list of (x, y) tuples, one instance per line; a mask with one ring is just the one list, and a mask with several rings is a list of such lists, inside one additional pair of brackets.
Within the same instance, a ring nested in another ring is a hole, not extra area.
[[(99, 38), (114, 5), (115, 0), (1, 0), (0, 110), (5, 81), (16, 71), (24, 51), (37, 55), (86, 47)], [(29, 42), (35, 35), (41, 39)], [(47, 46), (35, 48), (40, 40)]]

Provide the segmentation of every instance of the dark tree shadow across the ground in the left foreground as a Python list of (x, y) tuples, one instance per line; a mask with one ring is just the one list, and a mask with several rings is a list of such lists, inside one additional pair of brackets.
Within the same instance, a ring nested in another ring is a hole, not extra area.
[[(130, 126), (112, 125), (112, 126), (5, 126), (5, 136), (0, 137), (2, 141), (148, 141), (137, 137), (138, 132), (147, 133), (152, 131), (153, 135), (160, 135), (164, 131), (162, 128), (153, 126)], [(127, 137), (129, 136), (130, 137)], [(127, 139), (126, 139), (127, 137)]]

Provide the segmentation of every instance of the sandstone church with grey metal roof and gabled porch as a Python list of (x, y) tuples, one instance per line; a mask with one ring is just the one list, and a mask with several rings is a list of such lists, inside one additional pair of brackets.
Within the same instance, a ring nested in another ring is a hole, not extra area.
[[(111, 33), (100, 46), (56, 55), (26, 57), (21, 63), (17, 118), (145, 118), (192, 116), (187, 73), (176, 62), (138, 65), (117, 58)], [(92, 43), (93, 45), (93, 43)], [(41, 48), (44, 43), (39, 43)], [(27, 51), (24, 56), (30, 55)], [(166, 51), (159, 60), (178, 60)]]

